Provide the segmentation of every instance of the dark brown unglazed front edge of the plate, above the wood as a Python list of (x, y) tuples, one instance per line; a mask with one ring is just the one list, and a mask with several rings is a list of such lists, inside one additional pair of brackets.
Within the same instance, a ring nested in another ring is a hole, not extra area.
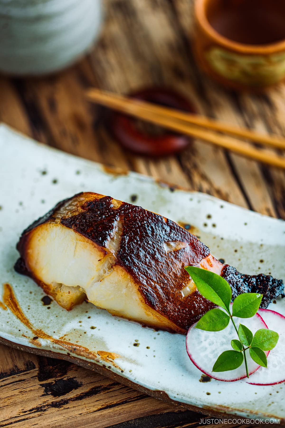
[[(88, 370), (92, 370), (94, 372), (100, 373), (100, 375), (105, 376), (105, 377), (109, 377), (110, 379), (114, 380), (116, 383), (121, 383), (129, 388), (135, 389), (137, 391), (143, 392), (146, 395), (150, 395), (154, 398), (157, 398), (159, 400), (162, 400), (166, 403), (170, 403), (170, 404), (174, 404), (175, 406), (177, 406), (178, 408), (183, 407), (185, 409), (197, 412), (199, 415), (210, 415), (210, 416), (217, 416), (217, 417), (221, 417), (221, 418), (225, 418), (225, 415), (228, 417), (237, 417), (236, 415), (234, 415), (233, 413), (230, 413), (231, 409), (227, 408), (225, 409), (225, 411), (222, 411), (220, 409), (215, 409), (214, 407), (209, 408), (209, 407), (197, 407), (191, 404), (185, 404), (185, 403), (180, 403), (179, 401), (175, 401), (172, 400), (171, 398), (169, 398), (169, 396), (166, 394), (166, 392), (164, 391), (159, 391), (158, 389), (156, 390), (152, 390), (152, 389), (147, 389), (144, 386), (138, 385), (137, 383), (132, 382), (131, 380), (127, 379), (126, 377), (123, 377), (122, 375), (118, 375), (117, 373), (112, 372), (112, 370), (107, 369), (106, 367), (100, 366), (97, 363), (89, 363), (88, 361), (82, 360), (81, 358), (78, 357), (72, 357), (70, 355), (67, 354), (61, 354), (59, 352), (55, 352), (55, 351), (47, 351), (45, 349), (40, 349), (40, 348), (30, 348), (29, 346), (26, 345), (19, 345), (18, 343), (14, 343), (11, 342), (8, 339), (4, 339), (3, 337), (0, 337), (0, 344), (2, 345), (6, 345), (6, 346), (10, 346), (12, 348), (16, 348), (19, 349), (21, 351), (25, 351), (25, 352), (29, 352), (32, 354), (37, 354), (37, 355), (41, 355), (44, 357), (50, 357), (50, 358), (58, 358), (59, 360), (65, 360), (68, 361), (70, 363), (73, 364), (77, 364), (78, 366), (82, 366), (85, 369)], [(110, 388), (111, 385), (109, 385)], [(232, 409), (233, 411), (235, 409)], [(247, 412), (249, 412), (249, 410), (247, 410)], [(280, 419), (280, 427), (285, 427), (285, 419), (280, 418), (277, 415), (271, 415), (268, 413), (264, 413), (265, 417), (272, 417), (272, 418), (276, 418), (276, 419)], [(256, 415), (252, 415), (252, 419), (256, 418)], [(30, 419), (30, 418), (27, 418)], [(24, 419), (26, 420), (26, 419)], [(11, 423), (9, 423), (9, 425), (11, 425)], [(0, 425), (0, 427), (3, 425)]]

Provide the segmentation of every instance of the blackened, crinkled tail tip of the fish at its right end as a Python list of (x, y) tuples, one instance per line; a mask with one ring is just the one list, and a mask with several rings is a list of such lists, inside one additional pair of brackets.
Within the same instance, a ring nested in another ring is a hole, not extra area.
[(238, 272), (235, 268), (225, 265), (222, 269), (221, 276), (229, 282), (232, 288), (232, 298), (234, 299), (241, 293), (261, 293), (263, 294), (261, 305), (266, 309), (272, 299), (279, 295), (284, 295), (284, 284), (282, 279), (275, 279), (271, 275), (246, 275)]

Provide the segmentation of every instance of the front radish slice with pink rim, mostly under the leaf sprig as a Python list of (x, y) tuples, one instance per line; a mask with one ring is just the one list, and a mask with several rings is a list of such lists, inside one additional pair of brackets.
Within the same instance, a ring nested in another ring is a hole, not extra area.
[[(252, 318), (236, 318), (234, 317), (235, 325), (246, 325), (253, 334), (260, 328), (267, 328), (267, 325), (259, 314)], [(238, 369), (230, 370), (229, 372), (212, 372), (217, 357), (223, 352), (232, 349), (231, 340), (238, 339), (235, 327), (232, 322), (229, 323), (226, 329), (221, 331), (205, 331), (195, 328), (196, 324), (192, 325), (186, 336), (186, 350), (192, 363), (205, 375), (217, 380), (225, 382), (233, 382), (235, 380), (244, 379), (246, 377), (245, 365), (242, 363)], [(268, 354), (268, 352), (266, 353)], [(251, 375), (259, 365), (251, 358), (249, 351), (246, 351), (248, 372)]]

